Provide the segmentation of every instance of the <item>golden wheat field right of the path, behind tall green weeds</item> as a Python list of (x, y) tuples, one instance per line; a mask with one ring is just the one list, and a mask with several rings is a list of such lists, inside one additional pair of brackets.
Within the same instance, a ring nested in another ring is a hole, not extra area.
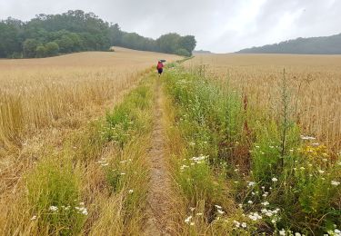
[(341, 56), (293, 54), (197, 54), (187, 66), (205, 65), (207, 74), (242, 91), (250, 105), (276, 115), (278, 86), (289, 81), (292, 115), (303, 133), (336, 152), (341, 149)]

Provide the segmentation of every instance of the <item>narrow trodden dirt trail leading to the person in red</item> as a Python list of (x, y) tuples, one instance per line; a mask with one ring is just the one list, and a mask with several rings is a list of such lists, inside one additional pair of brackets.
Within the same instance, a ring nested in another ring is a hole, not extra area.
[(145, 235), (171, 235), (169, 212), (172, 209), (171, 181), (165, 161), (165, 129), (163, 125), (163, 92), (161, 81), (156, 78), (154, 128), (152, 146), (149, 152), (150, 183), (145, 210)]

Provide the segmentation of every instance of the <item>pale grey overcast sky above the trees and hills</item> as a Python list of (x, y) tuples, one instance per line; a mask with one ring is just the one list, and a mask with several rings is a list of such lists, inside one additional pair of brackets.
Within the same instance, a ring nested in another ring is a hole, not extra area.
[(69, 9), (94, 12), (152, 38), (194, 34), (196, 49), (215, 53), (341, 33), (340, 0), (0, 0), (1, 19), (29, 20)]

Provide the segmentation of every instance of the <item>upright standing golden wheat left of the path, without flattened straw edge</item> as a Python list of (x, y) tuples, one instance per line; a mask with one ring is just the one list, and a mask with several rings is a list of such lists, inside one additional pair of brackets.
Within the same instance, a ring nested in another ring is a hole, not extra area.
[(176, 56), (116, 48), (45, 59), (0, 61), (0, 149), (25, 135), (112, 100), (159, 58)]

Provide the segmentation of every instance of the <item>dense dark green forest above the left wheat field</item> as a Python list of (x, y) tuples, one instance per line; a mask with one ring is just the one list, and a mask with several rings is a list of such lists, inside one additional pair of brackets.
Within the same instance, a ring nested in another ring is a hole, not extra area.
[(93, 13), (81, 10), (61, 15), (36, 15), (23, 22), (14, 18), (0, 21), (0, 57), (33, 58), (82, 51), (108, 51), (110, 47), (189, 56), (196, 47), (193, 35), (164, 34), (152, 39), (127, 33)]

